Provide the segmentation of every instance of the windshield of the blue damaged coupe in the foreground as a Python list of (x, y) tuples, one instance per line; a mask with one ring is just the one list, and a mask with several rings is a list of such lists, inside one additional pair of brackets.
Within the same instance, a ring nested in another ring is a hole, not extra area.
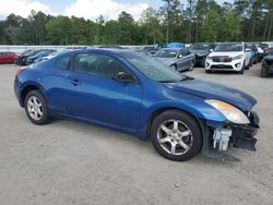
[(174, 83), (185, 79), (183, 75), (171, 71), (167, 65), (142, 53), (123, 52), (121, 56), (149, 79), (161, 83)]

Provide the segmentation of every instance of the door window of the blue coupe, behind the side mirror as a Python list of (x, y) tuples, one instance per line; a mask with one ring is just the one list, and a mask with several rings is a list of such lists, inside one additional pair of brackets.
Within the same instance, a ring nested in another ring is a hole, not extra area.
[(112, 77), (127, 69), (116, 59), (100, 53), (81, 53), (75, 58), (75, 71)]

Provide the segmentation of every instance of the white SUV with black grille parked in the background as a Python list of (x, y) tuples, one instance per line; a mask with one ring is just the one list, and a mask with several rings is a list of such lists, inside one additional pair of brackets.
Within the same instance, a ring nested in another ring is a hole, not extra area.
[(250, 49), (244, 43), (221, 43), (205, 59), (205, 72), (237, 71), (244, 74), (250, 65)]

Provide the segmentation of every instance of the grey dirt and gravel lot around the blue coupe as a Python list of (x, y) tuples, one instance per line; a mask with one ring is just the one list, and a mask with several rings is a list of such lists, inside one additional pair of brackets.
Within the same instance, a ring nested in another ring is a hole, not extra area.
[(260, 64), (238, 74), (187, 74), (258, 99), (258, 150), (241, 162), (161, 157), (150, 142), (91, 124), (28, 121), (13, 94), (14, 65), (0, 65), (0, 204), (273, 204), (273, 79)]

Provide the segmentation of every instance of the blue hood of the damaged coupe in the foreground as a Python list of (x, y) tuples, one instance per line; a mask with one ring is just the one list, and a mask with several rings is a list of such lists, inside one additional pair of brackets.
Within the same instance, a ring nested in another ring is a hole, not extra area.
[(242, 111), (250, 111), (257, 104), (257, 100), (250, 95), (217, 83), (201, 80), (186, 80), (178, 83), (166, 83), (164, 85), (167, 88), (195, 95), (205, 99), (218, 99), (234, 105)]

